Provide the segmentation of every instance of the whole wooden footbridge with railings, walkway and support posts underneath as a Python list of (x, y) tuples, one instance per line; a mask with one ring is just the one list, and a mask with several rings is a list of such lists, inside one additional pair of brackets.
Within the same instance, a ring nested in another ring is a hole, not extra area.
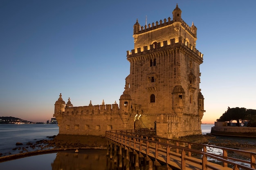
[[(255, 170), (256, 167), (254, 152), (165, 139), (148, 129), (106, 131), (106, 138), (107, 155), (115, 162), (117, 155), (122, 155), (120, 159), (123, 161), (118, 166), (126, 170), (132, 162), (138, 170), (141, 157), (148, 161), (148, 170), (153, 170), (154, 165), (173, 170)], [(219, 154), (211, 150), (218, 150)], [(135, 156), (131, 157), (131, 154)], [(248, 160), (232, 156), (236, 154), (247, 155)]]

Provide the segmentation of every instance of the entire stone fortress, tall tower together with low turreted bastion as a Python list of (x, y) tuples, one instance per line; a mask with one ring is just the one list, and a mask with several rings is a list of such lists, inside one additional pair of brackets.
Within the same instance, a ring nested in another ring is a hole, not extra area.
[(197, 28), (187, 25), (178, 6), (173, 20), (133, 26), (134, 49), (127, 51), (130, 74), (118, 104), (73, 107), (60, 98), (54, 116), (59, 134), (104, 135), (106, 130), (152, 128), (169, 139), (200, 135), (204, 97), (200, 92)]

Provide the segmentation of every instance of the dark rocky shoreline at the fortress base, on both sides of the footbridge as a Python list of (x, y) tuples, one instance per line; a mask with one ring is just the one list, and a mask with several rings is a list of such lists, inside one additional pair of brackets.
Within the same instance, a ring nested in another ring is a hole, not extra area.
[[(40, 141), (36, 141), (35, 144), (28, 142), (24, 147), (23, 144), (19, 145), (17, 148), (13, 148), (13, 150), (18, 150), (19, 153), (13, 154), (11, 151), (9, 153), (2, 154), (0, 153), (0, 162), (9, 161), (13, 159), (18, 159), (22, 157), (28, 157), (33, 155), (40, 155), (46, 153), (54, 153), (61, 150), (76, 150), (76, 149), (106, 149), (107, 148), (107, 140), (105, 137), (99, 136), (86, 136), (86, 139), (83, 139), (83, 142), (72, 143), (69, 141), (64, 141), (60, 139), (54, 139), (53, 137), (48, 137), (49, 139), (44, 139)], [(255, 143), (248, 142), (240, 142), (236, 140), (230, 140), (226, 138), (219, 137), (207, 137), (209, 140), (207, 144), (233, 148), (238, 150), (245, 150), (249, 152), (256, 152), (256, 141)], [(246, 156), (246, 155), (243, 155)]]

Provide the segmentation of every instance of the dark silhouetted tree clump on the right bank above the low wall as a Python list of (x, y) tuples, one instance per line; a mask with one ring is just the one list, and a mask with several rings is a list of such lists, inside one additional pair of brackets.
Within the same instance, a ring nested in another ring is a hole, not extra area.
[[(251, 110), (250, 112), (251, 113), (254, 113), (252, 111), (252, 109), (249, 109)], [(256, 110), (255, 110), (256, 111)], [(249, 119), (250, 117), (248, 117), (248, 113), (247, 112), (247, 109), (246, 108), (227, 108), (227, 111), (225, 111), (225, 113), (223, 113), (223, 115), (217, 119), (217, 121), (233, 121), (233, 120), (236, 120), (236, 126), (240, 126), (240, 121), (249, 121), (251, 122), (251, 119)], [(252, 116), (253, 118), (253, 116)], [(255, 121), (253, 121), (255, 122)], [(256, 123), (256, 122), (255, 122)]]

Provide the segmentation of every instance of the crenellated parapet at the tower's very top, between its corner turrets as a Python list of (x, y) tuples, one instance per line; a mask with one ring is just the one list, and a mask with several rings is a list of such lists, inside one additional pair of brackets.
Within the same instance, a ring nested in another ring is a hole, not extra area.
[[(153, 22), (152, 24), (148, 24), (148, 25), (145, 25), (144, 27), (141, 26), (140, 29), (139, 29), (139, 32), (138, 34), (141, 34), (141, 33), (145, 33), (147, 31), (152, 31), (154, 29), (159, 29), (161, 27), (164, 27), (164, 26), (168, 26), (168, 25), (171, 25), (173, 24), (174, 21), (171, 20), (170, 17), (168, 17), (168, 21), (164, 18), (164, 22), (162, 20), (160, 20), (159, 22)], [(184, 20), (181, 20), (181, 25), (186, 28), (187, 31), (189, 31), (189, 33), (191, 33), (192, 35), (193, 34), (193, 28), (191, 26), (189, 26), (188, 24), (186, 24), (186, 22), (184, 22)], [(196, 35), (194, 35), (196, 37)]]

